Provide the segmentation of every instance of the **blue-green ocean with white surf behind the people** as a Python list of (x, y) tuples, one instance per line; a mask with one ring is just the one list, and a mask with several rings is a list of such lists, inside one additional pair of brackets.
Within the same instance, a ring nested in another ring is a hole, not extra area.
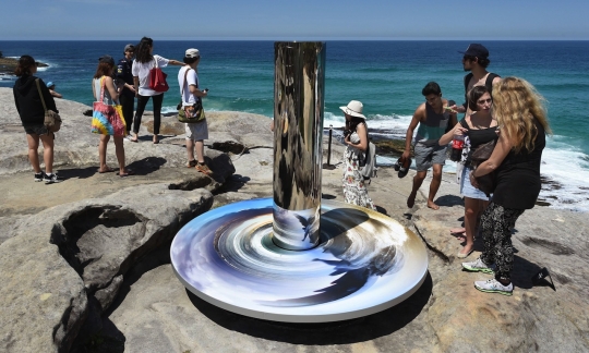
[[(137, 38), (139, 41), (140, 38)], [(64, 98), (92, 105), (91, 81), (97, 59), (122, 57), (131, 41), (0, 41), (4, 57), (31, 54), (49, 64), (39, 70), (45, 82), (56, 83)], [(338, 109), (351, 99), (364, 104), (370, 130), (389, 138), (404, 138), (414, 109), (423, 101), (421, 88), (430, 81), (443, 96), (464, 101), (461, 57), (468, 41), (326, 41), (324, 126), (344, 125)], [(541, 173), (548, 182), (540, 199), (553, 208), (589, 210), (589, 41), (483, 41), (490, 51), (489, 71), (519, 76), (546, 98), (554, 132), (542, 156)], [(237, 110), (272, 118), (274, 97), (273, 41), (158, 41), (154, 53), (182, 60), (184, 50), (197, 48), (199, 77), (208, 87), (206, 110)], [(178, 66), (164, 69), (170, 90), (164, 111), (175, 111), (179, 98)], [(13, 78), (1, 76), (0, 87)], [(148, 106), (147, 109), (151, 109)], [(171, 119), (171, 118), (170, 118)], [(380, 163), (390, 160), (380, 158)], [(449, 162), (445, 171), (453, 171)]]

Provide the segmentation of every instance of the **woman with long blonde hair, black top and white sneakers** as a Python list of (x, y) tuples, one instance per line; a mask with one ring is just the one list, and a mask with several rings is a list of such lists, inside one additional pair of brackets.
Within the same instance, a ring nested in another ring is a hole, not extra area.
[(512, 228), (538, 199), (542, 150), (551, 133), (543, 101), (522, 78), (505, 77), (493, 87), (500, 137), (489, 160), (470, 172), (470, 182), (477, 187), (476, 178), (494, 172), (496, 186), (481, 218), (484, 249), (477, 260), (462, 263), (467, 270), (495, 273), (488, 281), (474, 282), (482, 292), (512, 295), (514, 290)]

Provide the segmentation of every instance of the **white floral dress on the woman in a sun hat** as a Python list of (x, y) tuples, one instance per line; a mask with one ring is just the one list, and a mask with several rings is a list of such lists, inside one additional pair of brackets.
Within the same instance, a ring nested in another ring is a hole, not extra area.
[[(350, 136), (352, 143), (359, 142), (360, 138), (354, 132)], [(360, 174), (359, 159), (364, 158), (364, 154), (352, 146), (347, 146), (344, 153), (344, 198), (346, 203), (362, 206), (376, 210), (374, 203), (368, 195), (364, 178)]]

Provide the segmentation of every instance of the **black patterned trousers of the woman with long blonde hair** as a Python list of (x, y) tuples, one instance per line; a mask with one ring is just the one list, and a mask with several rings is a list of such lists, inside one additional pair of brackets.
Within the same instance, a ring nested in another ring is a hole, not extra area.
[(524, 214), (522, 209), (505, 208), (491, 202), (481, 217), (484, 242), (481, 259), (486, 265), (495, 264), (497, 280), (512, 280), (514, 267), (512, 228), (521, 214)]

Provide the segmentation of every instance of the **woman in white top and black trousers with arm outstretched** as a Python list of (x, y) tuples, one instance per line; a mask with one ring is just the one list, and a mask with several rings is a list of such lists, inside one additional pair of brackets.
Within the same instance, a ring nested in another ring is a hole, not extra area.
[(137, 142), (137, 134), (141, 126), (141, 118), (145, 111), (145, 106), (149, 101), (149, 97), (153, 98), (154, 105), (154, 144), (159, 143), (159, 124), (161, 123), (161, 105), (164, 102), (164, 93), (155, 92), (149, 88), (149, 70), (156, 66), (166, 68), (170, 65), (183, 65), (184, 63), (177, 60), (168, 60), (160, 56), (154, 56), (154, 40), (152, 38), (143, 37), (140, 44), (136, 46), (135, 60), (131, 72), (133, 73), (133, 85), (135, 87), (135, 97), (137, 98), (137, 110), (135, 111), (135, 119), (133, 120), (133, 138), (132, 142)]

